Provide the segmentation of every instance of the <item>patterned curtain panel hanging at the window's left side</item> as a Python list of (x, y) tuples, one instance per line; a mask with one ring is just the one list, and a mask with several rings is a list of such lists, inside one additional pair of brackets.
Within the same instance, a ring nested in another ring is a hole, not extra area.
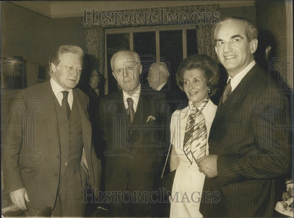
[(89, 67), (104, 73), (104, 29), (101, 27), (85, 30), (86, 56)]

